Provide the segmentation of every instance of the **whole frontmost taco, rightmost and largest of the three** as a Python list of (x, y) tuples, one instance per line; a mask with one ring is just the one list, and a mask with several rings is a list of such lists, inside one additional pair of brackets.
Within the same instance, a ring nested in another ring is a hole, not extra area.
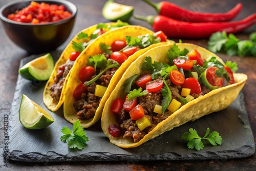
[[(227, 63), (228, 64), (228, 63)], [(110, 142), (136, 147), (188, 121), (225, 109), (243, 88), (214, 53), (192, 44), (152, 48), (124, 72), (101, 117)]]

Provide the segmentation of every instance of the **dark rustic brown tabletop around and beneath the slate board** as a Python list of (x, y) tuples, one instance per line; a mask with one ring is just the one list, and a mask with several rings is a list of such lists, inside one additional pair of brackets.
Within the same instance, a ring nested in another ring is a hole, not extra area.
[[(12, 2), (13, 0), (1, 0), (0, 7)], [(101, 9), (106, 1), (102, 0), (72, 0), (78, 7), (78, 15), (71, 38), (80, 30), (91, 25), (109, 22), (101, 15)], [(156, 12), (150, 6), (147, 6), (142, 1), (138, 0), (117, 0), (117, 3), (132, 5), (135, 7), (135, 13), (138, 15), (155, 15)], [(154, 1), (160, 2), (160, 1)], [(205, 12), (225, 12), (234, 7), (237, 3), (243, 4), (241, 13), (235, 20), (242, 19), (252, 13), (255, 13), (256, 1), (170, 1), (184, 8)], [(150, 25), (140, 22), (136, 19), (131, 19), (130, 24), (141, 25), (151, 28)], [(256, 31), (256, 26), (252, 26), (242, 33), (236, 34), (240, 39), (248, 39), (249, 34)], [(4, 126), (8, 124), (6, 116), (8, 116), (13, 95), (15, 92), (15, 85), (18, 75), (19, 62), (28, 54), (24, 50), (18, 48), (5, 34), (2, 25), (0, 26), (0, 153), (3, 152), (5, 146)], [(68, 41), (69, 41), (68, 40)], [(174, 39), (176, 42), (178, 39)], [(59, 48), (62, 50), (68, 44), (68, 41)], [(191, 42), (193, 44), (207, 48), (208, 39), (182, 39), (183, 42)], [(245, 96), (245, 105), (248, 112), (248, 117), (256, 137), (256, 58), (255, 57), (229, 57), (225, 54), (218, 54), (224, 61), (236, 61), (239, 65), (239, 73), (248, 75), (248, 80), (243, 88)], [(241, 137), (243, 138), (243, 137)], [(255, 138), (254, 138), (255, 140)], [(2, 156), (2, 155), (1, 155)], [(243, 159), (230, 160), (199, 160), (199, 161), (116, 161), (116, 162), (63, 162), (63, 163), (27, 163), (27, 162), (12, 162), (7, 161), (6, 158), (0, 159), (0, 170), (253, 170), (256, 166), (256, 155)]]

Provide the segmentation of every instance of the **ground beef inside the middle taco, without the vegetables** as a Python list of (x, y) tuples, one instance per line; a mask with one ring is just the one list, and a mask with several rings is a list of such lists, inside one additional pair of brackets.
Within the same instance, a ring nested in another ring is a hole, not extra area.
[(101, 100), (101, 97), (94, 95), (95, 87), (97, 84), (108, 87), (116, 70), (117, 68), (106, 70), (96, 82), (87, 88), (87, 93), (83, 93), (81, 99), (74, 103), (74, 108), (78, 111), (76, 114), (78, 119), (86, 120), (94, 117)]

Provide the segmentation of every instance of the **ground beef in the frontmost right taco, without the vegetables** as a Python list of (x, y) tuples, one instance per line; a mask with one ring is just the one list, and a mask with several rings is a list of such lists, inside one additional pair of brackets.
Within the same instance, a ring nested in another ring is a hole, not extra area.
[[(158, 81), (162, 78), (157, 78), (154, 81)], [(166, 80), (166, 83), (172, 92), (172, 98), (180, 101), (179, 97), (181, 97), (181, 86), (176, 86), (173, 84), (170, 80)], [(202, 87), (202, 93), (200, 95), (204, 95), (208, 93), (209, 90), (205, 87)], [(143, 110), (145, 112), (145, 116), (151, 121), (151, 126), (146, 127), (143, 131), (140, 131), (138, 129), (138, 126), (135, 122), (135, 120), (132, 120), (130, 118), (129, 112), (124, 111), (123, 109), (121, 112), (117, 115), (117, 121), (120, 124), (123, 138), (133, 140), (134, 142), (139, 142), (148, 132), (154, 129), (154, 127), (168, 118), (170, 115), (172, 115), (172, 112), (166, 111), (164, 114), (156, 114), (153, 112), (155, 104), (161, 105), (162, 100), (162, 93), (147, 93), (145, 96), (140, 96), (137, 98), (138, 104), (140, 104), (143, 107)], [(199, 94), (193, 94), (194, 98), (197, 98), (200, 96)]]

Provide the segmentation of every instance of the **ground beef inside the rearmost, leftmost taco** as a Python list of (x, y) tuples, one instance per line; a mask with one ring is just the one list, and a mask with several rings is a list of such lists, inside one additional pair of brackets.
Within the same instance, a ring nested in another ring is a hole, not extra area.
[(54, 103), (58, 103), (63, 88), (63, 84), (74, 63), (75, 61), (68, 60), (66, 63), (59, 66), (57, 74), (54, 77), (54, 83), (50, 87), (51, 97), (53, 98)]

